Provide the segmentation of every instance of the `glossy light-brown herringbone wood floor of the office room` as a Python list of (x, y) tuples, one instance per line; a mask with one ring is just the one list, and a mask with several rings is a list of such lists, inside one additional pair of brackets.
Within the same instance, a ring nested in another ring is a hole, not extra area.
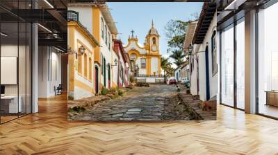
[(278, 121), (218, 106), (203, 122), (67, 122), (65, 98), (0, 125), (0, 154), (278, 154)]

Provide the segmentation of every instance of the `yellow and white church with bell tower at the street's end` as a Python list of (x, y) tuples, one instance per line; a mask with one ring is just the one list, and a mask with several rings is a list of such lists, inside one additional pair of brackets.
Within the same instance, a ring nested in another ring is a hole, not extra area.
[(129, 54), (134, 69), (135, 76), (140, 77), (161, 77), (161, 55), (159, 51), (158, 30), (154, 28), (154, 22), (145, 37), (143, 46), (138, 44), (138, 38), (134, 37), (134, 31), (131, 31), (128, 44), (124, 46), (124, 51)]

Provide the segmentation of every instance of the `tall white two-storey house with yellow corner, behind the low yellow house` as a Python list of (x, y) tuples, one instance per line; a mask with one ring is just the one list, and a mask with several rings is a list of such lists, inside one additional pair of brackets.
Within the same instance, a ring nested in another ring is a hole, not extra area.
[(95, 3), (70, 3), (68, 4), (70, 16), (80, 23), (91, 33), (99, 46), (93, 52), (94, 65), (92, 66), (95, 93), (99, 93), (101, 86), (108, 89), (112, 83), (113, 48), (112, 39), (117, 37), (117, 28), (106, 4)]

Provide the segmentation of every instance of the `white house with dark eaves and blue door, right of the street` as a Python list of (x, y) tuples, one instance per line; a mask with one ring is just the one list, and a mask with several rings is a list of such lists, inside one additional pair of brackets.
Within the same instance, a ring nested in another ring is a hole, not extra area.
[(216, 15), (216, 4), (204, 3), (196, 28), (188, 28), (188, 31), (195, 29), (193, 45), (186, 45), (190, 57), (190, 92), (199, 95), (200, 100), (216, 100), (218, 94)]

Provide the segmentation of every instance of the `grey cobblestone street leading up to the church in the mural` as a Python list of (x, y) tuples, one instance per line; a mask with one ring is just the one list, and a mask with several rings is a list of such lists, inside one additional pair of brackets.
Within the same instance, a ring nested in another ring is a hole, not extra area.
[(171, 109), (178, 102), (174, 85), (151, 84), (149, 87), (136, 87), (125, 93), (123, 98), (96, 104), (74, 116), (73, 120), (188, 120), (186, 113), (177, 117), (177, 112)]

